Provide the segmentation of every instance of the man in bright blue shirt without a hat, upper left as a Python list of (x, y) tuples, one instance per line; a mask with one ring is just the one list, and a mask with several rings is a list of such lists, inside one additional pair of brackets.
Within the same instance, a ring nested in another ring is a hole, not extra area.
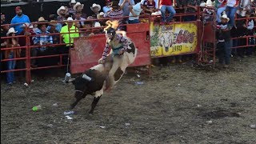
[(17, 6), (15, 8), (15, 12), (16, 12), (16, 16), (11, 20), (10, 24), (16, 24), (16, 23), (21, 23), (18, 25), (14, 25), (12, 27), (14, 27), (14, 30), (17, 31), (17, 34), (20, 34), (22, 32), (22, 23), (30, 23), (30, 18), (25, 15), (22, 14), (22, 8), (20, 6)]

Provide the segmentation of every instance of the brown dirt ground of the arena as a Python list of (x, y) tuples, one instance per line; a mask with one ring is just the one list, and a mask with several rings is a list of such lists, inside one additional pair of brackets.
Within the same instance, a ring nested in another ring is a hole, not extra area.
[[(74, 108), (74, 86), (60, 77), (1, 86), (1, 143), (241, 143), (256, 142), (256, 57), (234, 58), (229, 69), (182, 64), (126, 74), (102, 96)], [(142, 81), (144, 84), (135, 85)], [(58, 106), (53, 106), (57, 103)], [(33, 106), (42, 110), (32, 111)], [(100, 126), (106, 126), (100, 128)]]

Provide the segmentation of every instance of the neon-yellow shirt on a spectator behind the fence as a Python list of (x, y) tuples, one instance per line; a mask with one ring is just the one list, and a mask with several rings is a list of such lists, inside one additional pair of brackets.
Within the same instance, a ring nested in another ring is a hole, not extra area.
[(70, 46), (70, 44), (72, 46), (74, 43), (74, 38), (79, 37), (78, 28), (75, 26), (70, 27), (71, 34), (65, 34), (65, 33), (69, 33), (67, 25), (62, 27), (62, 30), (60, 33), (62, 34), (62, 38), (63, 38), (63, 41), (66, 43), (66, 46)]

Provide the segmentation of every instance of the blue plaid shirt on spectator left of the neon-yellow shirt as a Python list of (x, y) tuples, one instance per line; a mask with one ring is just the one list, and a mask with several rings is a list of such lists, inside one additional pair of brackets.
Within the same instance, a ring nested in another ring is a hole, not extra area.
[[(47, 42), (53, 43), (53, 38), (51, 35), (46, 35), (46, 34), (50, 34), (50, 32), (46, 31), (46, 33), (42, 33), (41, 30), (36, 31), (37, 34), (34, 37), (34, 44), (40, 44), (40, 45), (46, 45)], [(38, 35), (41, 34), (41, 35)], [(42, 46), (40, 47), (40, 50), (44, 51), (46, 50), (46, 46)]]

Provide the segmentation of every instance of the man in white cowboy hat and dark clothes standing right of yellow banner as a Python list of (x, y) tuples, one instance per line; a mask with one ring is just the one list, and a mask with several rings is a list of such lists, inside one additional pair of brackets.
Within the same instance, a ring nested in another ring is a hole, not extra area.
[(228, 23), (230, 18), (226, 14), (223, 14), (221, 17), (221, 22), (217, 25), (217, 39), (218, 39), (218, 62), (224, 68), (230, 66), (230, 55), (231, 55), (231, 35), (230, 30), (231, 26)]

